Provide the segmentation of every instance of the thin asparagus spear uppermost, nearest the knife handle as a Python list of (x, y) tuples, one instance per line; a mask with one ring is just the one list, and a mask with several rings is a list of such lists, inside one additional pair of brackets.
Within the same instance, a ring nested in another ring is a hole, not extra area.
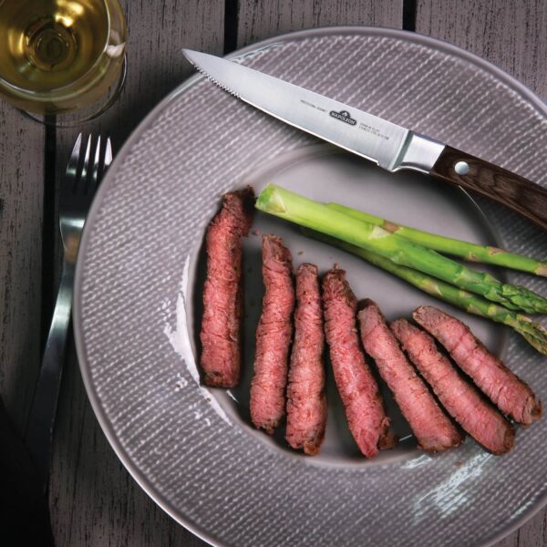
[(396, 233), (411, 242), (418, 243), (418, 245), (423, 245), (434, 251), (439, 251), (439, 253), (453, 254), (470, 262), (505, 266), (512, 270), (520, 270), (528, 274), (547, 277), (547, 262), (545, 261), (536, 260), (535, 258), (521, 254), (508, 253), (497, 247), (484, 247), (476, 243), (464, 242), (436, 233), (422, 232), (421, 230), (409, 228), (396, 222), (387, 221), (367, 212), (356, 211), (356, 209), (339, 203), (327, 203), (327, 207), (339, 212), (345, 212), (355, 219), (381, 226), (387, 232)]

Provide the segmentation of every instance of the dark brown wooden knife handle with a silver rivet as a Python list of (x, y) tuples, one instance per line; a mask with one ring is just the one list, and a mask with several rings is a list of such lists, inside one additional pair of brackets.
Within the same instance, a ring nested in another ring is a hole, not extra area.
[(539, 184), (449, 146), (429, 174), (498, 201), (547, 232), (547, 190)]

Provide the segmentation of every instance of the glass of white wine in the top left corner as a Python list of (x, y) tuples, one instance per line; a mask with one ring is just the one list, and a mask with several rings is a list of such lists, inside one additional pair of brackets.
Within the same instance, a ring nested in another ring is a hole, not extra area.
[(59, 114), (111, 93), (125, 58), (118, 0), (0, 0), (0, 96)]

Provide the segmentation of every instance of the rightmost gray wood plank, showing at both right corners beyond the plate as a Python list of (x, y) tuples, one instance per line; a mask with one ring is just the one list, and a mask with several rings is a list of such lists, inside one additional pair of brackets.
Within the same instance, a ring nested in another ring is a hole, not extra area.
[[(463, 47), (547, 99), (547, 3), (543, 0), (418, 0), (416, 30)], [(496, 547), (547, 545), (547, 510)]]

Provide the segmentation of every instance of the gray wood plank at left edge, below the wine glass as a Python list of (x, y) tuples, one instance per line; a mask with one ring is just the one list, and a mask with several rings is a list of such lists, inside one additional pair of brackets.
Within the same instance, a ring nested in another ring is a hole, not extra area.
[(44, 128), (0, 99), (0, 395), (22, 435), (40, 356)]

